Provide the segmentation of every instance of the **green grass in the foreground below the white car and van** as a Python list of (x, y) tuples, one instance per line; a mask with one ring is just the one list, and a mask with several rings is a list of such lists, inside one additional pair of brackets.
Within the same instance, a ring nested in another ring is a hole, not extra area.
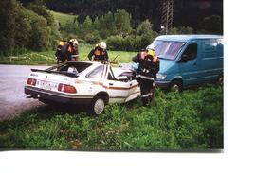
[(180, 94), (156, 90), (155, 106), (140, 99), (106, 106), (44, 106), (0, 122), (1, 149), (157, 150), (223, 148), (223, 88)]

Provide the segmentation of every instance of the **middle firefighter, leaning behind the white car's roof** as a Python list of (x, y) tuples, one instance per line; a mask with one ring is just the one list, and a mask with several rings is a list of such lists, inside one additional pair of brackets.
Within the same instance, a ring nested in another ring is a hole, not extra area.
[(108, 61), (108, 54), (106, 50), (106, 43), (100, 42), (88, 54), (90, 61), (101, 61), (101, 63)]

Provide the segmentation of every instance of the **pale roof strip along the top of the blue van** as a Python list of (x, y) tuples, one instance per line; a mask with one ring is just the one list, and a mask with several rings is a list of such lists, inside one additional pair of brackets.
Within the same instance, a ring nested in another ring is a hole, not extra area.
[(222, 39), (222, 35), (161, 35), (155, 40), (187, 42), (192, 39)]

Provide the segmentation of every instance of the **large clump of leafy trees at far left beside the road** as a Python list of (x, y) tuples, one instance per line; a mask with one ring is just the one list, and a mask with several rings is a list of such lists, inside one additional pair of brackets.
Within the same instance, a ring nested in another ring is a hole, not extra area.
[(0, 16), (0, 53), (43, 50), (60, 39), (58, 24), (40, 0), (26, 8), (16, 0), (0, 1)]

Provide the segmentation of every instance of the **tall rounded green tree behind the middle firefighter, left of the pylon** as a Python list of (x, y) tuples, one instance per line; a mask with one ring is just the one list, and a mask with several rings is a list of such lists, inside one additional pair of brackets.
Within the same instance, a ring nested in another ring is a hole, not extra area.
[(114, 14), (115, 26), (117, 28), (117, 34), (123, 37), (131, 32), (131, 15), (124, 9), (118, 9)]

